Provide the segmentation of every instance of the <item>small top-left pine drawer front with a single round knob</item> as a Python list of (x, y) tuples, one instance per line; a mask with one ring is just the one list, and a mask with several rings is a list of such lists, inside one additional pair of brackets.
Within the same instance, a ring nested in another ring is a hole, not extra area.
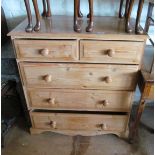
[(17, 58), (42, 61), (78, 60), (75, 40), (15, 40)]

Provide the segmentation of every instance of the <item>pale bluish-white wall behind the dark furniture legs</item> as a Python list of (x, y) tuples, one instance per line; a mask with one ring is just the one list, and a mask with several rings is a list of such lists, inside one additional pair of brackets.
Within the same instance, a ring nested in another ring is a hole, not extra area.
[[(51, 0), (54, 15), (73, 15), (74, 0)], [(94, 0), (94, 14), (96, 16), (118, 16), (120, 0)], [(38, 0), (40, 12), (42, 0)], [(13, 29), (26, 17), (24, 0), (1, 0), (9, 30)], [(30, 0), (33, 9), (32, 0)], [(88, 13), (88, 0), (81, 0), (81, 10), (84, 15)], [(135, 1), (132, 17), (136, 16), (137, 0)], [(34, 11), (32, 12), (34, 14)], [(147, 4), (144, 5), (141, 21), (144, 22), (147, 14)]]

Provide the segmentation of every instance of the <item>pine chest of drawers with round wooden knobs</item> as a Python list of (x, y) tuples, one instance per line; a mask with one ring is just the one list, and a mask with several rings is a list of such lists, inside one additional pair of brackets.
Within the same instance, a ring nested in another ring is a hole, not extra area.
[(42, 19), (38, 33), (26, 21), (10, 32), (31, 133), (126, 135), (146, 36), (126, 34), (116, 17), (95, 20), (91, 34), (64, 16)]

